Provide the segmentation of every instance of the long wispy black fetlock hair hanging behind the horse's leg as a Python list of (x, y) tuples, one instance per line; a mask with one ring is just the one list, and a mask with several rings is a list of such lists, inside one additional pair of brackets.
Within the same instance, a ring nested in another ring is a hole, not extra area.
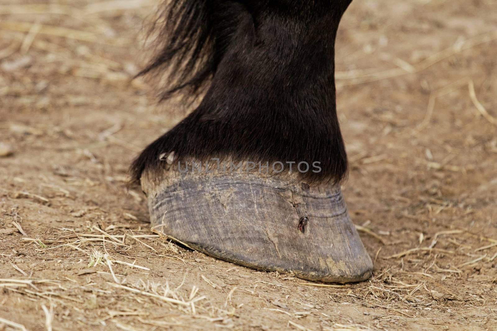
[(149, 30), (155, 55), (136, 77), (166, 78), (164, 101), (183, 91), (199, 93), (216, 72), (236, 28), (237, 8), (219, 0), (166, 0)]

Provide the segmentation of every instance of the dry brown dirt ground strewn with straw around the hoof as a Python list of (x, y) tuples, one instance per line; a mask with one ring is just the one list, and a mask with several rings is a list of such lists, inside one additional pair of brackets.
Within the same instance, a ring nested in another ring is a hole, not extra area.
[(0, 330), (497, 330), (495, 0), (345, 13), (344, 195), (375, 261), (345, 286), (150, 231), (127, 168), (184, 115), (128, 81), (155, 3), (0, 3)]

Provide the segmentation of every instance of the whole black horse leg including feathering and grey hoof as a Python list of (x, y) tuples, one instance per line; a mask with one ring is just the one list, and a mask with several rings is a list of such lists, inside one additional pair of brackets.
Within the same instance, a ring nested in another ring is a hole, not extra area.
[(139, 75), (163, 76), (162, 100), (205, 95), (131, 167), (156, 230), (256, 269), (370, 277), (339, 185), (334, 42), (350, 1), (166, 0)]

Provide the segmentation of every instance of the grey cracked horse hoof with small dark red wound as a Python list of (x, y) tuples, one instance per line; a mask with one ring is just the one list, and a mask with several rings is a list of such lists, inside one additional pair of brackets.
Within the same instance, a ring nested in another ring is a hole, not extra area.
[(152, 227), (212, 257), (324, 282), (357, 282), (373, 263), (338, 185), (253, 173), (142, 177)]

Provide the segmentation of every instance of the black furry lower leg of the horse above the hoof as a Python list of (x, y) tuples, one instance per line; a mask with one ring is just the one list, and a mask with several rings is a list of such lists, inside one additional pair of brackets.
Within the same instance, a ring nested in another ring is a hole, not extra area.
[(210, 86), (200, 105), (131, 167), (164, 169), (160, 155), (254, 162), (321, 162), (301, 174), (339, 182), (347, 158), (338, 126), (334, 41), (351, 0), (172, 0), (160, 50), (141, 74), (169, 72), (163, 99)]

